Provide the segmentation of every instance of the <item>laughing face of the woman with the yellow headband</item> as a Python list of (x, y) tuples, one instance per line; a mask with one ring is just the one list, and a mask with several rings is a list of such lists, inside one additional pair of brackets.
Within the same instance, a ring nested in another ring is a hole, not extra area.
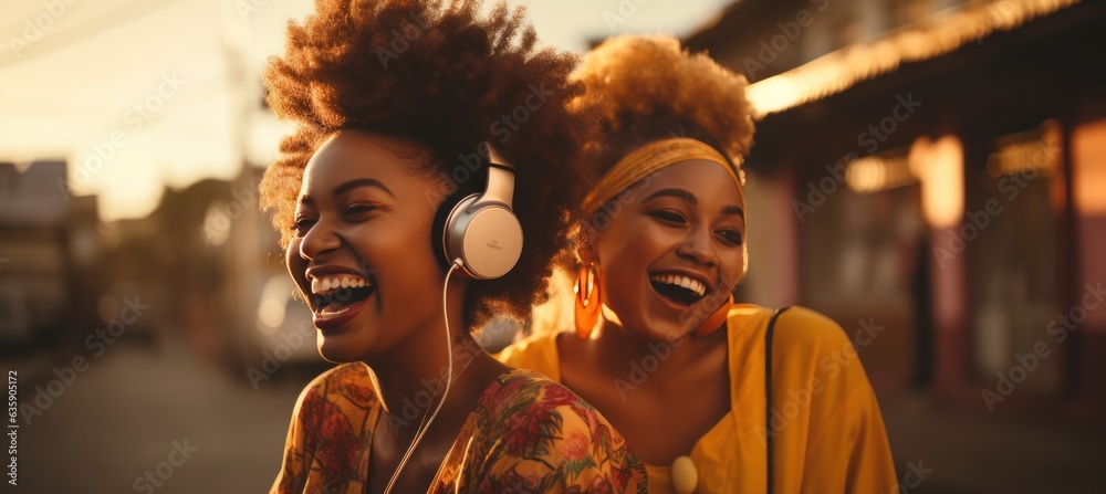
[(627, 190), (623, 211), (582, 251), (598, 265), (604, 314), (650, 340), (687, 334), (700, 320), (691, 314), (713, 312), (744, 269), (741, 191), (707, 160), (671, 165)]

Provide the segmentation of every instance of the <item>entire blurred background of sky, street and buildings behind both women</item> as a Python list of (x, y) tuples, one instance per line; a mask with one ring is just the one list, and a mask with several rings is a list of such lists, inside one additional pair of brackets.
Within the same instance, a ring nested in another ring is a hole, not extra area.
[[(512, 3), (549, 44), (669, 32), (750, 80), (738, 298), (854, 338), (900, 492), (1102, 492), (1106, 2)], [(327, 367), (257, 208), (288, 130), (260, 72), (311, 7), (3, 1), (4, 492), (268, 488)]]

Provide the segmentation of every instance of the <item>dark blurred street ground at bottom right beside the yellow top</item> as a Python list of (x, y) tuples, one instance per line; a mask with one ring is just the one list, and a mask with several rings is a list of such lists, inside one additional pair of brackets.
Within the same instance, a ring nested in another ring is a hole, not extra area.
[(901, 494), (1103, 492), (1106, 418), (995, 417), (925, 395), (880, 399), (880, 407), (900, 482), (911, 470), (931, 471), (920, 483), (911, 477)]

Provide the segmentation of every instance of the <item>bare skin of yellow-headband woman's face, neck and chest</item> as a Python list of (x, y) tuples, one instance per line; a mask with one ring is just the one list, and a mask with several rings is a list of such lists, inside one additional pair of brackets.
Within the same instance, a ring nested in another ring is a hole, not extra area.
[[(628, 190), (630, 203), (580, 251), (598, 266), (604, 317), (593, 339), (557, 338), (562, 380), (646, 463), (669, 465), (730, 411), (727, 329), (689, 336), (698, 319), (661, 298), (649, 276), (678, 272), (705, 281), (707, 296), (691, 309), (713, 304), (702, 313), (713, 312), (718, 294), (731, 291), (744, 267), (741, 191), (722, 167), (703, 160), (669, 166)], [(640, 365), (653, 355), (650, 344), (669, 339), (671, 355), (624, 400), (615, 380), (629, 382), (630, 362)]]

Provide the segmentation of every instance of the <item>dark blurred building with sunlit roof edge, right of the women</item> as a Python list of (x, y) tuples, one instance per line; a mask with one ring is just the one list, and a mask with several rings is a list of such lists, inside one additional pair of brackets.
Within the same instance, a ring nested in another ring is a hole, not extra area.
[(747, 299), (884, 391), (1106, 407), (1106, 2), (743, 0), (686, 43), (753, 83)]

